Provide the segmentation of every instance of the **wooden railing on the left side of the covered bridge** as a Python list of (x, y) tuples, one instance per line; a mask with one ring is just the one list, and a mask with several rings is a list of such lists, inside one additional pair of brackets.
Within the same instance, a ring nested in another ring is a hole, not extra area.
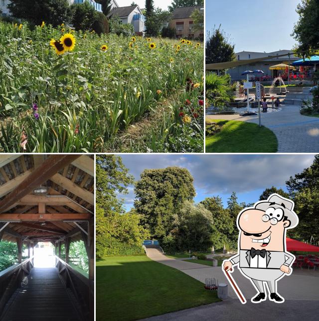
[(0, 319), (4, 306), (33, 268), (33, 259), (32, 256), (0, 272)]

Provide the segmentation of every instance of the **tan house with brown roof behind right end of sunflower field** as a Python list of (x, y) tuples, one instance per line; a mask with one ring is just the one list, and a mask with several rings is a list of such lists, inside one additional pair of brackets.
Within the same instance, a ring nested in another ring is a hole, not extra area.
[(191, 15), (195, 10), (199, 10), (199, 12), (204, 14), (203, 5), (175, 8), (171, 16), (169, 27), (175, 29), (176, 38), (204, 39), (204, 25), (202, 30), (194, 30), (193, 27)]

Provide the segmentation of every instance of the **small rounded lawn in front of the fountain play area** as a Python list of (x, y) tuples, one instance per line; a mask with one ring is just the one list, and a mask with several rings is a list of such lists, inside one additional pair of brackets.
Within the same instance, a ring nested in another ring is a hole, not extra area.
[(275, 153), (278, 142), (276, 135), (258, 124), (237, 120), (213, 120), (225, 122), (222, 130), (213, 136), (206, 136), (208, 153)]

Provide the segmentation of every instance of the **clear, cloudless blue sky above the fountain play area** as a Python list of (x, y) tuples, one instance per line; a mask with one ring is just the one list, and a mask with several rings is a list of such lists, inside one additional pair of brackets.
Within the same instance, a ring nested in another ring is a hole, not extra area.
[(291, 50), (301, 0), (206, 0), (206, 30), (219, 27), (230, 35), (235, 52)]

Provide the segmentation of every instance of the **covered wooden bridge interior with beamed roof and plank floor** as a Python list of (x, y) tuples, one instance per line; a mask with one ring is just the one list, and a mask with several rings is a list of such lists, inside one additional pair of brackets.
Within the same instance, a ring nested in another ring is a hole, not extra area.
[[(1, 321), (94, 320), (94, 156), (0, 155), (1, 239), (18, 249), (17, 263), (0, 272)], [(76, 240), (88, 277), (69, 264)], [(55, 267), (34, 267), (38, 242), (55, 246)]]

